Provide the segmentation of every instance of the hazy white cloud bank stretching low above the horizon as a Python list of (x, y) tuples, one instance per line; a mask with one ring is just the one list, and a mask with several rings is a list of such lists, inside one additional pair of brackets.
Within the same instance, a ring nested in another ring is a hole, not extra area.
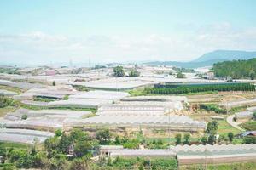
[[(188, 28), (189, 29), (189, 28)], [(188, 33), (189, 32), (189, 33)], [(91, 35), (64, 37), (33, 31), (0, 35), (2, 61), (23, 63), (94, 63), (129, 60), (190, 60), (216, 49), (256, 50), (256, 28), (230, 23), (201, 26), (183, 34), (143, 37)]]

